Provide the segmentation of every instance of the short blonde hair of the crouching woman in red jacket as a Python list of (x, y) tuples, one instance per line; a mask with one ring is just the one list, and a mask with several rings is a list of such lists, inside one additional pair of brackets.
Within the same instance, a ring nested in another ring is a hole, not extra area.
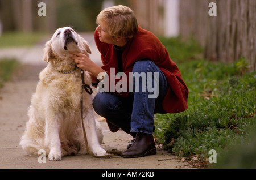
[(96, 23), (104, 24), (110, 36), (132, 38), (138, 31), (134, 12), (127, 6), (118, 5), (105, 8), (98, 14)]

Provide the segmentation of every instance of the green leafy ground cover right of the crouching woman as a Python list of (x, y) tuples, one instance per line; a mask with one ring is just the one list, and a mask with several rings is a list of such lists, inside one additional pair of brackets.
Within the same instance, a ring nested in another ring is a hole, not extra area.
[(172, 59), (180, 58), (175, 62), (188, 86), (189, 97), (185, 112), (155, 115), (157, 141), (181, 160), (208, 167), (213, 166), (208, 161), (210, 149), (217, 152), (220, 162), (231, 154), (228, 152), (234, 145), (251, 144), (254, 138), (250, 134), (256, 130), (256, 72), (247, 72), (246, 59), (231, 64), (213, 63), (197, 58), (201, 49), (195, 41), (171, 38), (162, 42)]

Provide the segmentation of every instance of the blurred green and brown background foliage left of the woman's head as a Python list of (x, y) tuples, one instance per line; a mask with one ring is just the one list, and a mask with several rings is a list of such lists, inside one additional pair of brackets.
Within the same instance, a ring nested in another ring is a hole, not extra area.
[[(38, 15), (40, 2), (46, 3), (46, 16)], [(94, 31), (98, 13), (112, 3), (126, 5), (127, 0), (0, 0), (0, 23), (3, 32), (52, 32), (64, 26)]]

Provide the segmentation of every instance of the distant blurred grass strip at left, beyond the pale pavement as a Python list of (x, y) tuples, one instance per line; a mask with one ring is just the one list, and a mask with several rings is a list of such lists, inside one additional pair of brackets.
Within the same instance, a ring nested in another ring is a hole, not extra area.
[(6, 32), (0, 36), (0, 48), (35, 45), (44, 33)]

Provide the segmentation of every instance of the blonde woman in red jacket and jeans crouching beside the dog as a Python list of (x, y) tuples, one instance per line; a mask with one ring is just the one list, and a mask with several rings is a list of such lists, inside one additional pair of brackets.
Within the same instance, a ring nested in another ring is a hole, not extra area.
[(94, 83), (105, 85), (94, 97), (94, 110), (106, 118), (112, 132), (121, 128), (135, 138), (123, 157), (155, 155), (154, 114), (186, 110), (187, 86), (166, 48), (138, 26), (129, 7), (106, 8), (96, 23), (94, 38), (103, 66), (85, 54), (71, 52), (77, 67), (90, 72)]

